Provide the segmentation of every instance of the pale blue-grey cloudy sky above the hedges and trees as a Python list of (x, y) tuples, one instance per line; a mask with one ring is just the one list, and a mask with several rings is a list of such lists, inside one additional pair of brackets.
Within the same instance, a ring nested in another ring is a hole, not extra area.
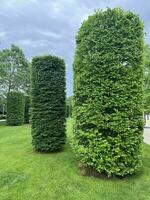
[(0, 49), (12, 43), (26, 57), (53, 54), (65, 59), (67, 94), (72, 94), (75, 34), (95, 9), (122, 7), (139, 14), (150, 43), (149, 0), (0, 0)]

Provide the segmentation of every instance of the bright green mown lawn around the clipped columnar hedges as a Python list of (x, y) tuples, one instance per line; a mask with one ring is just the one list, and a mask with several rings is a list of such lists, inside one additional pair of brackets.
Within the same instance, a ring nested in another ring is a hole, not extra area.
[[(68, 138), (71, 129), (68, 120)], [(30, 132), (29, 125), (0, 126), (0, 200), (150, 200), (150, 146), (143, 145), (138, 175), (95, 178), (81, 175), (69, 142), (64, 152), (36, 153)]]

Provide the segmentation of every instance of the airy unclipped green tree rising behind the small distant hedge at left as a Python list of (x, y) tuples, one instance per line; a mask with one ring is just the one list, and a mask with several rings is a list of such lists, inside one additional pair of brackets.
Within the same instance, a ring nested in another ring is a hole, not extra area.
[(11, 45), (10, 49), (0, 52), (0, 95), (6, 96), (10, 91), (28, 92), (30, 69), (23, 51)]

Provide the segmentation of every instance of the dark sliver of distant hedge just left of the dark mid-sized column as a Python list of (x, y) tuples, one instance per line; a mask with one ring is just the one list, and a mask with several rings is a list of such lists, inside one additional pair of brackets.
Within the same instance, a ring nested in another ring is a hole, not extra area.
[(30, 96), (25, 96), (24, 123), (28, 124), (29, 121), (30, 121)]

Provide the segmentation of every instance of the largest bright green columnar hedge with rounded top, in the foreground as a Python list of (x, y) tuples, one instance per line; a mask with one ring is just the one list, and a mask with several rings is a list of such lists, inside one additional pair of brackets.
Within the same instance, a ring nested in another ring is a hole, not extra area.
[(74, 60), (75, 148), (81, 162), (108, 176), (141, 167), (143, 24), (122, 9), (83, 22)]

